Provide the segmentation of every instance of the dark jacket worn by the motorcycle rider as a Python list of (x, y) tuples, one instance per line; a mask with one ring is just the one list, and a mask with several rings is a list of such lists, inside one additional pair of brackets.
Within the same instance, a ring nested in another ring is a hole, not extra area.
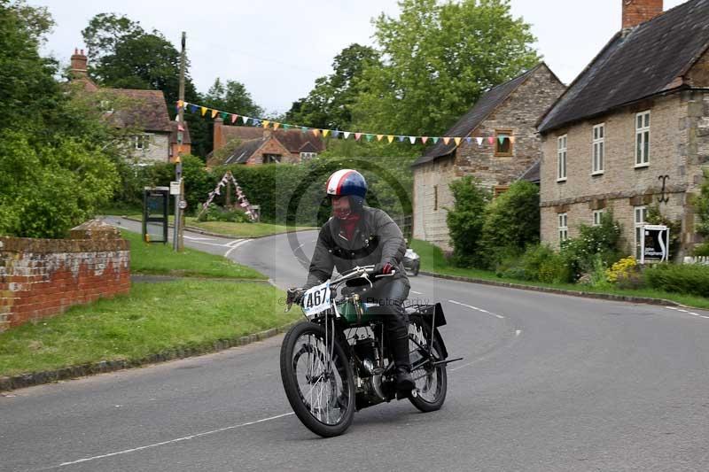
[(320, 228), (305, 288), (330, 279), (333, 267), (344, 274), (354, 267), (379, 262), (390, 263), (396, 270), (393, 279), (403, 280), (408, 286), (409, 278), (401, 262), (405, 253), (406, 242), (396, 223), (382, 210), (364, 206), (351, 241), (345, 237), (337, 218), (331, 218)]

